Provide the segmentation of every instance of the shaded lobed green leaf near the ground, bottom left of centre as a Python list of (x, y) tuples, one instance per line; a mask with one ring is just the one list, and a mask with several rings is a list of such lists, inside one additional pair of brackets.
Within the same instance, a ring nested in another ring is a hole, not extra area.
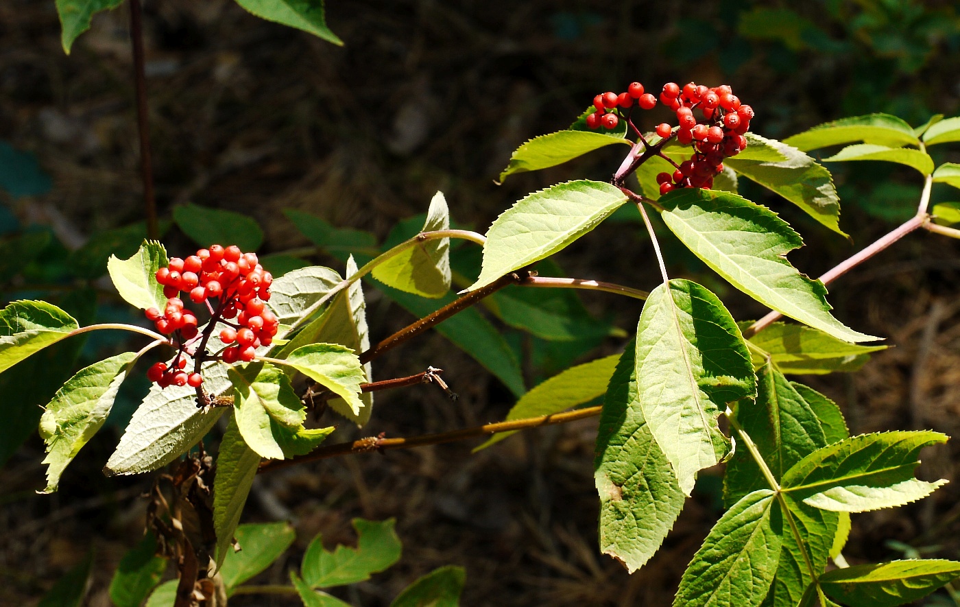
[(371, 573), (384, 571), (400, 559), (400, 539), (394, 531), (394, 519), (365, 521), (353, 519), (357, 547), (339, 545), (332, 552), (324, 550), (317, 535), (303, 554), (300, 573), (310, 588), (330, 588), (362, 582)]

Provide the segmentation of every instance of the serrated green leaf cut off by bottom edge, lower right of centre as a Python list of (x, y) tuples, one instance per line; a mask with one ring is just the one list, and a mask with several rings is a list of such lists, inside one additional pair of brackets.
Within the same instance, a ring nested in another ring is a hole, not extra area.
[(782, 525), (772, 491), (755, 491), (736, 502), (684, 571), (674, 606), (759, 605), (777, 571)]

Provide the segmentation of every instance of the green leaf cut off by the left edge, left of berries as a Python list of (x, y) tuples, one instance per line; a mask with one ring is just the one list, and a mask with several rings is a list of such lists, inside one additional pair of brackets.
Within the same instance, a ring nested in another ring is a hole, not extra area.
[(79, 328), (54, 304), (20, 300), (0, 310), (0, 373)]

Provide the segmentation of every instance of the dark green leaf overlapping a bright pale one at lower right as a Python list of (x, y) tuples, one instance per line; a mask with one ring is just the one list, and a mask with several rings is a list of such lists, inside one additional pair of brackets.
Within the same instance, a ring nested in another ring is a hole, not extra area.
[(913, 478), (920, 449), (944, 443), (931, 431), (861, 434), (810, 453), (783, 474), (784, 492), (809, 498), (836, 487), (891, 487)]

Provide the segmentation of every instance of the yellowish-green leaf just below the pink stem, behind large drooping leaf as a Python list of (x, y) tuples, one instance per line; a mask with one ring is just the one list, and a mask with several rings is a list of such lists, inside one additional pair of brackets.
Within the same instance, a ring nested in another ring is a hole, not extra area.
[[(744, 323), (742, 326), (749, 326)], [(841, 341), (817, 328), (774, 323), (750, 338), (750, 343), (769, 354), (780, 373), (821, 375), (835, 371), (858, 371), (870, 352), (886, 346), (860, 346)], [(754, 366), (766, 363), (766, 356), (751, 351)]]

